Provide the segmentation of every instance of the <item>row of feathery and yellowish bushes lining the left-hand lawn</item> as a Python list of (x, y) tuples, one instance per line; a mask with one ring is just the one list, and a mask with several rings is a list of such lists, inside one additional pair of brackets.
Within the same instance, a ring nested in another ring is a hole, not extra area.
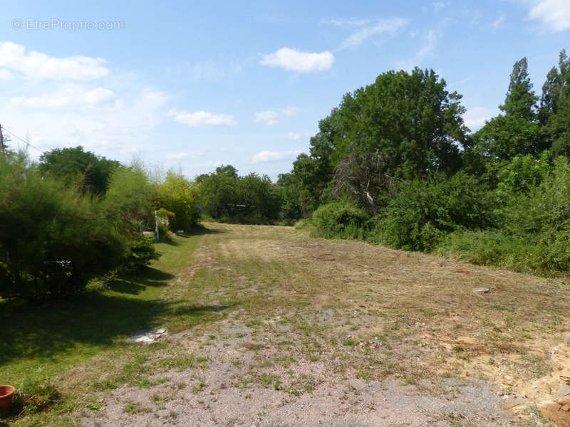
[(0, 155), (0, 297), (45, 299), (75, 295), (90, 280), (133, 273), (157, 257), (155, 211), (171, 227), (197, 221), (195, 189), (168, 172), (150, 179), (84, 152), (55, 149), (33, 164), (24, 154)]

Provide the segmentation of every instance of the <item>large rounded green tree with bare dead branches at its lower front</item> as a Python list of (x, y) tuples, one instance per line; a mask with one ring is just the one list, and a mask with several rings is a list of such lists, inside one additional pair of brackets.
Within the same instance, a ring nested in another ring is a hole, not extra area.
[(415, 68), (380, 74), (347, 93), (319, 123), (311, 154), (294, 163), (300, 198), (317, 204), (345, 191), (375, 213), (376, 199), (394, 179), (457, 171), (467, 142), (465, 108), (445, 86), (433, 70)]

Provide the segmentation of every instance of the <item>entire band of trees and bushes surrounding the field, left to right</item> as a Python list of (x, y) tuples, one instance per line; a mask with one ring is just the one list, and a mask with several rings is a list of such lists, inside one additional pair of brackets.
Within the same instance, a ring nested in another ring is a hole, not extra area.
[(277, 185), (222, 165), (195, 181), (152, 177), (83, 147), (38, 164), (0, 154), (0, 296), (81, 292), (157, 254), (143, 231), (190, 231), (200, 215), (540, 273), (570, 270), (570, 59), (534, 93), (522, 58), (501, 113), (470, 134), (461, 95), (433, 70), (389, 71), (343, 96)]

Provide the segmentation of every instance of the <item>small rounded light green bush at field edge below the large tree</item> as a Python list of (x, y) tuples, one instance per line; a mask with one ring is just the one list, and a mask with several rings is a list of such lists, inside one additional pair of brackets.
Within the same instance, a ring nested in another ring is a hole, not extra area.
[(314, 230), (324, 238), (364, 238), (368, 214), (343, 201), (333, 201), (313, 212)]

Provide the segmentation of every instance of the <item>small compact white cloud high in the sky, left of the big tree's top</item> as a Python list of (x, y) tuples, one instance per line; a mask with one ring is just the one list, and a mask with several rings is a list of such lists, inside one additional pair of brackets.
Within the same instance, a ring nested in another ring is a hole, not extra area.
[(259, 62), (269, 67), (280, 67), (291, 71), (310, 73), (331, 68), (334, 56), (331, 52), (321, 53), (301, 52), (297, 49), (281, 48), (274, 53), (268, 53)]

